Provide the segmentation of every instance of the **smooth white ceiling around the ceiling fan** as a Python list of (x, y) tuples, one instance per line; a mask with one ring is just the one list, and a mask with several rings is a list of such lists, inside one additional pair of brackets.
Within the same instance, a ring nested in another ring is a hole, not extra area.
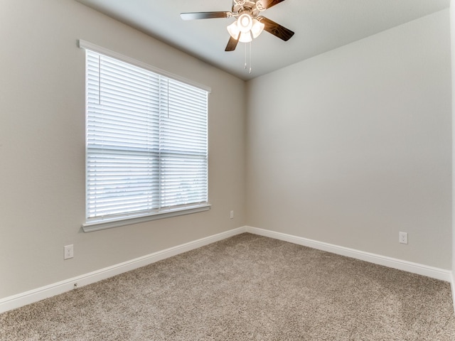
[[(250, 80), (416, 18), (449, 8), (450, 0), (286, 0), (262, 13), (294, 31), (283, 40), (253, 40), (252, 73), (245, 45), (225, 52), (233, 18), (183, 21), (181, 12), (230, 11), (232, 0), (77, 0), (232, 75)], [(248, 49), (249, 50), (249, 49)]]

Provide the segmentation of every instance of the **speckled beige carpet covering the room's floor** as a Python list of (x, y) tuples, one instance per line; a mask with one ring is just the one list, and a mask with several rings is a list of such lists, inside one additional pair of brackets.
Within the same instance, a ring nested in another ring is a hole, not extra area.
[(253, 234), (0, 315), (0, 340), (455, 340), (449, 283)]

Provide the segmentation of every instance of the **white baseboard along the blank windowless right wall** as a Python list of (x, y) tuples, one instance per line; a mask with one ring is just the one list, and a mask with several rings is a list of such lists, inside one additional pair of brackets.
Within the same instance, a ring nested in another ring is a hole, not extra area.
[[(369, 252), (349, 249), (347, 247), (339, 247), (337, 245), (317, 242), (316, 240), (306, 239), (303, 237), (296, 237), (292, 236), (291, 234), (284, 234), (281, 232), (274, 232), (268, 229), (259, 229), (257, 227), (250, 226), (245, 227), (245, 229), (246, 232), (250, 232), (252, 234), (259, 234), (264, 237), (279, 239), (283, 240), (284, 242), (291, 242), (294, 244), (303, 245), (304, 247), (311, 247), (313, 249), (328, 251), (333, 254), (340, 254), (341, 256), (348, 256), (351, 258), (360, 259), (362, 261), (368, 261), (373, 264), (388, 266), (389, 268), (411, 272), (412, 274), (419, 274), (427, 277), (437, 278), (440, 279), (441, 281), (452, 283), (452, 273), (449, 270), (412, 263), (411, 261), (402, 261), (401, 259), (381, 256), (379, 254), (370, 254)], [(454, 293), (454, 291), (452, 291), (452, 293)]]

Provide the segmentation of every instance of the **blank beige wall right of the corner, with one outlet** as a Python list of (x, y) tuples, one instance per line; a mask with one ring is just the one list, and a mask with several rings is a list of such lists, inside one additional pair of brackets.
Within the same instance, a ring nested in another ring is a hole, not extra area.
[(451, 269), (449, 33), (447, 9), (248, 82), (247, 224)]

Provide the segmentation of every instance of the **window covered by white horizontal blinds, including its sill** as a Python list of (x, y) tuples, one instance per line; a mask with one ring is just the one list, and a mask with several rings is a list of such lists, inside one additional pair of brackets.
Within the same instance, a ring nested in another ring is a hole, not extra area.
[(208, 210), (208, 91), (86, 58), (84, 230)]

